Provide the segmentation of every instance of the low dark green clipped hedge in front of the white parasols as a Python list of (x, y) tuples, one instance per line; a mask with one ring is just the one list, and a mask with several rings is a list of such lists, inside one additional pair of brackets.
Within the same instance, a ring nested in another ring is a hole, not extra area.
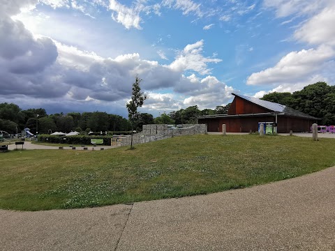
[(80, 144), (90, 145), (91, 139), (103, 139), (103, 145), (110, 146), (112, 142), (112, 135), (89, 136), (89, 135), (75, 135), (75, 136), (61, 136), (61, 135), (38, 135), (39, 142), (61, 143), (61, 144)]

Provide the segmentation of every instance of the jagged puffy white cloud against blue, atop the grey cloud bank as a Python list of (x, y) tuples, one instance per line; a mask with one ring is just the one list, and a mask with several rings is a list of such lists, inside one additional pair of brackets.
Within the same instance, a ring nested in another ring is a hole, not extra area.
[(197, 43), (186, 45), (183, 51), (179, 53), (177, 58), (170, 64), (172, 70), (184, 72), (185, 70), (193, 70), (201, 75), (211, 73), (211, 69), (207, 68), (208, 63), (218, 63), (221, 59), (213, 59), (204, 57), (202, 53), (202, 47), (204, 41), (200, 40)]

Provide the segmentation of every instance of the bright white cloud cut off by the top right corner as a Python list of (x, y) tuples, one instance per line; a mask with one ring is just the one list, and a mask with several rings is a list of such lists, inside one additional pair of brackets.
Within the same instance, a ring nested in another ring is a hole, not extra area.
[(297, 31), (295, 38), (310, 44), (335, 45), (335, 4), (323, 9), (304, 23)]

